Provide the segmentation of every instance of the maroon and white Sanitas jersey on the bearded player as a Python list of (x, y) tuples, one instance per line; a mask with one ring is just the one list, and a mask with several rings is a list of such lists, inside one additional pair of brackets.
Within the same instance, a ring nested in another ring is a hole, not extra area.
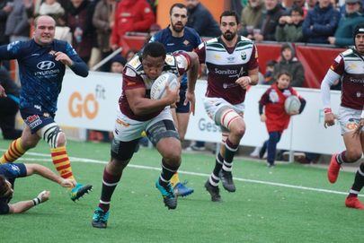
[(244, 102), (246, 90), (235, 81), (258, 67), (258, 52), (253, 41), (238, 36), (235, 48), (226, 48), (219, 37), (201, 43), (195, 52), (208, 69), (206, 96), (223, 98), (233, 105)]

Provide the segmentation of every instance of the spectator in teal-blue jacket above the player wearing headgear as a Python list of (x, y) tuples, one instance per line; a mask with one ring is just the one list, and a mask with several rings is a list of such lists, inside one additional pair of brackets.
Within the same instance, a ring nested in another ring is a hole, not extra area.
[(360, 7), (360, 0), (345, 0), (345, 14), (340, 19), (334, 36), (328, 38), (330, 44), (338, 47), (354, 45), (352, 32), (360, 22), (364, 22)]

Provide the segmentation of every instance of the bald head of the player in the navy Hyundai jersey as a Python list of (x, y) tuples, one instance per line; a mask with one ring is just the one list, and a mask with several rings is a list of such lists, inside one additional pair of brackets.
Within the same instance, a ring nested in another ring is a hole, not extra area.
[(55, 35), (56, 21), (49, 15), (40, 15), (34, 20), (34, 40), (40, 46), (49, 45)]

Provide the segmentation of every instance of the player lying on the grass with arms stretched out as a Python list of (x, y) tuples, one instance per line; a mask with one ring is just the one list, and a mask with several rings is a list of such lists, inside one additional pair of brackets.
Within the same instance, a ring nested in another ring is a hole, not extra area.
[(75, 187), (75, 180), (61, 178), (47, 167), (39, 164), (7, 163), (0, 165), (0, 214), (23, 213), (33, 206), (49, 200), (49, 191), (42, 191), (34, 199), (9, 204), (13, 198), (16, 178), (25, 178), (38, 174), (57, 182), (62, 187)]

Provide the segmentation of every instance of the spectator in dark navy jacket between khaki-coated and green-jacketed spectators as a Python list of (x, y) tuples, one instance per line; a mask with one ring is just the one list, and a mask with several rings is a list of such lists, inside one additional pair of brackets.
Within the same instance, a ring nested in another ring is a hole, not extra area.
[(260, 31), (253, 32), (255, 41), (276, 40), (276, 27), (280, 17), (284, 14), (284, 9), (279, 0), (264, 0), (265, 12), (262, 16), (262, 28)]

